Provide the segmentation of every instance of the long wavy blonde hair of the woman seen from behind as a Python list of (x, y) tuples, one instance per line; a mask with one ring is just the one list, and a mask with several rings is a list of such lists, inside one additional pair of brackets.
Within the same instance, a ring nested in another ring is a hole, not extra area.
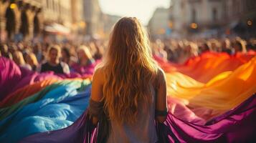
[(148, 86), (158, 71), (148, 35), (138, 19), (124, 17), (115, 24), (103, 61), (104, 109), (119, 124), (133, 124), (139, 101), (150, 99), (146, 97), (150, 94)]

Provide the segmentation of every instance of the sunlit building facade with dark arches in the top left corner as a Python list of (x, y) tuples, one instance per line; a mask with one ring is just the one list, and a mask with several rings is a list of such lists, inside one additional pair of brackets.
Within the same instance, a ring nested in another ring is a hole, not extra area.
[(1, 0), (0, 40), (32, 39), (34, 29), (38, 30), (41, 26), (37, 21), (40, 9), (42, 7), (38, 0)]

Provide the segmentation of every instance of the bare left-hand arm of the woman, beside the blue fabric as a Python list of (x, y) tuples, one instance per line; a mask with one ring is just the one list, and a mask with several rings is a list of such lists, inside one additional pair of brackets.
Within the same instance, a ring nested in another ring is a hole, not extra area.
[[(97, 69), (93, 75), (93, 83), (92, 83), (92, 92), (91, 92), (91, 100), (93, 102), (101, 102), (103, 98), (103, 71), (101, 69)], [(90, 109), (90, 107), (89, 107)], [(98, 123), (98, 118), (93, 117), (93, 124)]]

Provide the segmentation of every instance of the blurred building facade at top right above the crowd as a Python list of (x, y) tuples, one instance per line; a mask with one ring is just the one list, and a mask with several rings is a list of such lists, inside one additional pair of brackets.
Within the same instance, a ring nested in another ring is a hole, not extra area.
[(253, 0), (173, 0), (170, 21), (173, 34), (178, 37), (199, 33), (217, 36), (232, 30), (237, 24), (254, 23), (255, 9)]

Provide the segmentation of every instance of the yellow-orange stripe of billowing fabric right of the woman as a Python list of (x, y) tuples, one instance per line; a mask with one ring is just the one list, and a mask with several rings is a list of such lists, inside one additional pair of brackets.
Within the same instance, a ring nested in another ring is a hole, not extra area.
[(235, 71), (224, 72), (207, 84), (173, 72), (166, 74), (168, 94), (189, 101), (191, 106), (228, 110), (256, 92), (256, 57)]

